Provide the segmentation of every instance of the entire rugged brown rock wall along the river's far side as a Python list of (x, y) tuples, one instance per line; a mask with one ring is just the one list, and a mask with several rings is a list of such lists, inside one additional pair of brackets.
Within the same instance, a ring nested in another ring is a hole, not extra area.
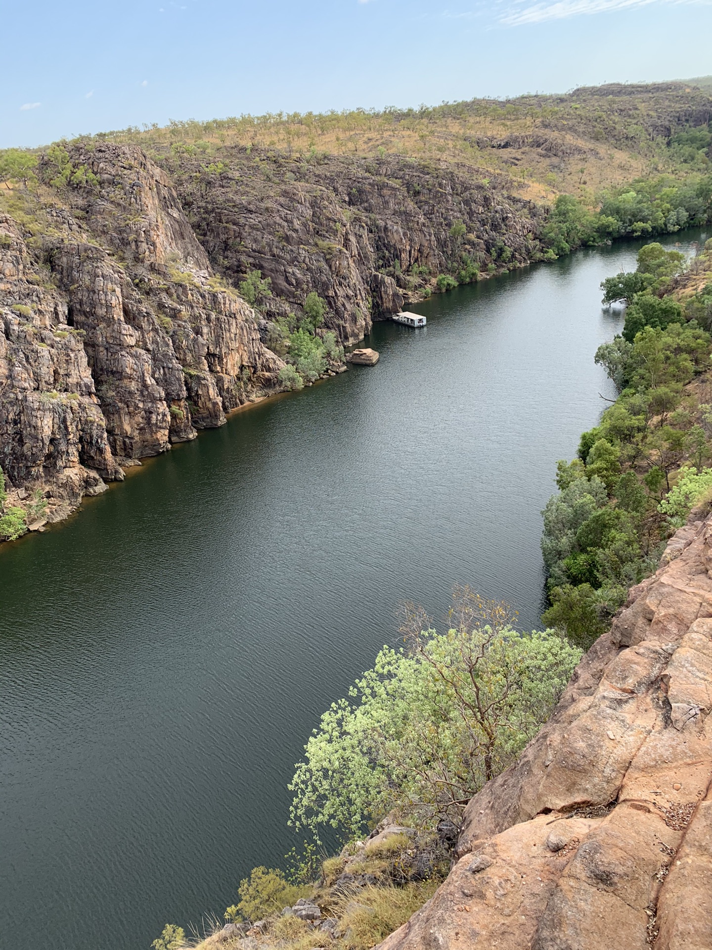
[[(435, 274), (462, 253), (486, 265), (505, 246), (509, 266), (538, 255), (543, 212), (504, 178), (444, 165), (242, 149), (219, 172), (166, 161), (171, 177), (136, 145), (67, 155), (73, 177), (48, 185), (44, 156), (45, 183), (17, 185), (0, 215), (0, 466), (9, 504), (41, 498), (49, 521), (282, 389), (267, 329), (310, 291), (352, 343), (401, 309), (414, 267)], [(261, 313), (215, 265), (272, 279)]]

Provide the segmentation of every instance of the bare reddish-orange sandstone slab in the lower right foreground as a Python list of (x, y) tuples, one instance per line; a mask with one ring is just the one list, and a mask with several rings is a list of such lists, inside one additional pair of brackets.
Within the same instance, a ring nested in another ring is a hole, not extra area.
[(470, 802), (458, 864), (383, 950), (712, 947), (712, 517)]

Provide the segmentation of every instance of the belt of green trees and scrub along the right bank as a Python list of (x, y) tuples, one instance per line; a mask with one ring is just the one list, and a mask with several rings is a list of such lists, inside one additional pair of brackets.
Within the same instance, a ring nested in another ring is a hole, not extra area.
[(544, 509), (552, 606), (544, 621), (589, 647), (657, 567), (670, 534), (712, 499), (712, 241), (689, 264), (659, 243), (604, 280), (628, 304), (623, 333), (596, 352), (620, 395), (559, 462)]

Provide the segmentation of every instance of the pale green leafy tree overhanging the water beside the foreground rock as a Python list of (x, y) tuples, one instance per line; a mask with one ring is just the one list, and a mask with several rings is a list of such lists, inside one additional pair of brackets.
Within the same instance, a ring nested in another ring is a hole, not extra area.
[(581, 651), (552, 631), (522, 634), (510, 609), (457, 588), (450, 629), (404, 609), (407, 649), (384, 647), (333, 703), (290, 784), (291, 822), (358, 835), (396, 809), (459, 822), (553, 709)]

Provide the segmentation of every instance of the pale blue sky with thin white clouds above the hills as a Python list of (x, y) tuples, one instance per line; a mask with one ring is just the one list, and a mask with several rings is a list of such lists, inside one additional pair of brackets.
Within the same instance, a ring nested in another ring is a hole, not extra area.
[(712, 0), (37, 0), (2, 29), (0, 147), (712, 73)]

